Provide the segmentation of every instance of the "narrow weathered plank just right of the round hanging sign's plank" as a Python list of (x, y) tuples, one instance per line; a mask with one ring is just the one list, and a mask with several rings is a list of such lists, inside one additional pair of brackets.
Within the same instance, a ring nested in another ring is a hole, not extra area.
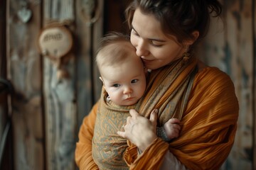
[[(77, 58), (77, 98), (78, 98), (78, 130), (82, 118), (90, 112), (93, 101), (92, 91), (92, 61), (91, 56), (91, 29), (88, 16), (86, 16), (87, 4), (85, 1), (76, 1), (76, 29), (75, 29), (75, 57)], [(76, 133), (78, 134), (78, 132)]]

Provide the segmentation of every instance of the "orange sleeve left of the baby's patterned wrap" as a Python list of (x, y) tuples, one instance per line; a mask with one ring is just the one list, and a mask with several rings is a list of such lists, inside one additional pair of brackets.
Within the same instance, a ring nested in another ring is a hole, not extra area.
[(75, 162), (80, 170), (98, 169), (92, 159), (92, 137), (95, 127), (98, 103), (92, 107), (92, 111), (82, 121), (80, 131), (78, 133), (78, 142), (75, 147)]

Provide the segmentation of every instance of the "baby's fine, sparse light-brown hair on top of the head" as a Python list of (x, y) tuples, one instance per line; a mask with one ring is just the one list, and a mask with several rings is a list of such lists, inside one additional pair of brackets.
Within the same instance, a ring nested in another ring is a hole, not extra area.
[[(132, 53), (134, 50), (134, 53)], [(97, 50), (97, 66), (122, 64), (132, 54), (136, 55), (135, 48), (129, 41), (129, 36), (122, 33), (109, 33), (100, 41), (100, 47)]]

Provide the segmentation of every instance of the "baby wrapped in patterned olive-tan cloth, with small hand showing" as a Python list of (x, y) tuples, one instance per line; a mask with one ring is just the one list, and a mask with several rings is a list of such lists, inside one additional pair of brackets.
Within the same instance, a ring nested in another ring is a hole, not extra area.
[[(113, 33), (102, 39), (96, 62), (100, 70), (103, 92), (97, 112), (95, 135), (92, 139), (92, 157), (99, 168), (112, 169), (113, 160), (115, 167), (117, 162), (120, 162), (120, 166), (125, 164), (122, 160), (117, 160), (118, 157), (114, 157), (122, 154), (124, 146), (127, 146), (122, 143), (126, 143), (126, 140), (119, 137), (116, 132), (126, 122), (129, 110), (135, 108), (142, 98), (146, 89), (146, 73), (144, 64), (136, 55), (129, 38), (120, 33)], [(178, 123), (178, 119), (171, 118), (164, 127), (157, 127), (156, 135), (170, 142), (178, 137)], [(112, 150), (112, 153), (106, 150)]]

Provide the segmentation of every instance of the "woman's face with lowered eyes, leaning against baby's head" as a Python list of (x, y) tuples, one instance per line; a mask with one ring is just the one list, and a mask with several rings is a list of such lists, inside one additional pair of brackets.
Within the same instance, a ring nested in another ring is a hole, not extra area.
[(144, 14), (139, 8), (132, 20), (131, 42), (136, 53), (148, 69), (158, 69), (180, 58), (184, 45), (173, 35), (166, 35), (161, 24), (151, 14)]

